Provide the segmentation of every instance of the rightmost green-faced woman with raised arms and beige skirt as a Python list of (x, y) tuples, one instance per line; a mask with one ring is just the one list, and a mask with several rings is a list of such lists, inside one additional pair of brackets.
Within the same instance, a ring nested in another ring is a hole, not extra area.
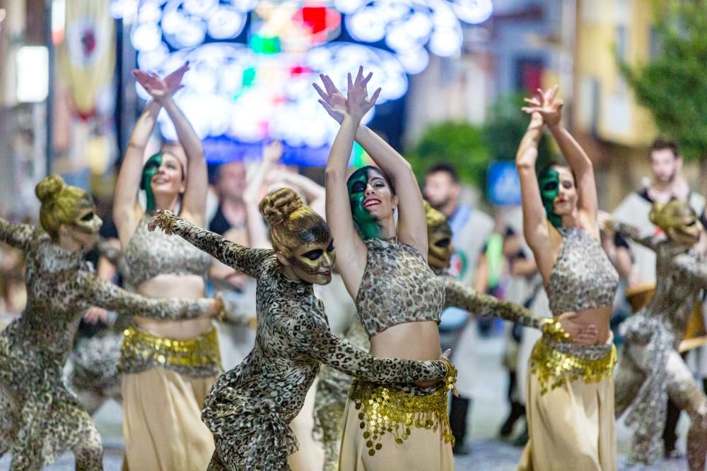
[[(518, 148), (523, 232), (542, 275), (555, 316), (595, 325), (597, 345), (535, 344), (527, 385), (530, 441), (520, 470), (616, 469), (614, 382), (616, 349), (609, 330), (619, 275), (599, 242), (592, 162), (560, 124), (554, 87), (523, 111), (530, 126)], [(553, 165), (535, 177), (537, 143), (547, 125), (570, 167)], [(546, 215), (547, 212), (547, 215)], [(576, 314), (566, 314), (570, 311)]]

